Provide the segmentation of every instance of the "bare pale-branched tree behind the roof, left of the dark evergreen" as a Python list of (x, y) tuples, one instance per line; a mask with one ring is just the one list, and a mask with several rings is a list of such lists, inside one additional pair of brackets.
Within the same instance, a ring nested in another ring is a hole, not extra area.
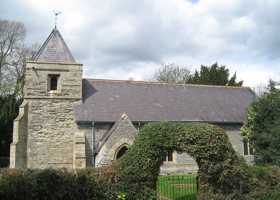
[(186, 83), (190, 78), (190, 71), (174, 63), (164, 64), (154, 75), (154, 79), (165, 83)]

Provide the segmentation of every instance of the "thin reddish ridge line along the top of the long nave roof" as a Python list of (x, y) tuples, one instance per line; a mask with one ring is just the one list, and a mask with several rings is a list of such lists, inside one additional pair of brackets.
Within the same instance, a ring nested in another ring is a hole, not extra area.
[(203, 84), (184, 84), (184, 83), (165, 83), (157, 81), (144, 81), (144, 80), (117, 80), (117, 79), (95, 79), (95, 78), (83, 78), (89, 81), (107, 82), (107, 83), (134, 83), (134, 84), (146, 84), (146, 85), (174, 85), (174, 86), (191, 86), (191, 87), (210, 87), (210, 88), (232, 88), (232, 89), (249, 89), (248, 86), (227, 86), (227, 85), (203, 85)]

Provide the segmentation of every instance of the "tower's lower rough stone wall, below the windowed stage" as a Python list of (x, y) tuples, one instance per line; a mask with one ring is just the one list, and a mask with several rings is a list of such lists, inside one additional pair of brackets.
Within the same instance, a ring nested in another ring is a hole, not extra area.
[(75, 100), (29, 100), (28, 168), (73, 165)]

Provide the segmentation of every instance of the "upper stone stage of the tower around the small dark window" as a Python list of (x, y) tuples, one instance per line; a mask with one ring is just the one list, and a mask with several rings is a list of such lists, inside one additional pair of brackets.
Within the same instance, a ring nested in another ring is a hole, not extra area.
[[(58, 91), (48, 91), (48, 75), (59, 75)], [(82, 65), (27, 62), (25, 72), (25, 99), (82, 98)], [(67, 101), (65, 101), (67, 103)]]

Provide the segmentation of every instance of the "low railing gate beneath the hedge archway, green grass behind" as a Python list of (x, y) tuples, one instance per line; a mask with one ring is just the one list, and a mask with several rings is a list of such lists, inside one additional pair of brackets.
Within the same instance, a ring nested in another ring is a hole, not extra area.
[(165, 175), (157, 181), (158, 200), (196, 200), (197, 175)]

